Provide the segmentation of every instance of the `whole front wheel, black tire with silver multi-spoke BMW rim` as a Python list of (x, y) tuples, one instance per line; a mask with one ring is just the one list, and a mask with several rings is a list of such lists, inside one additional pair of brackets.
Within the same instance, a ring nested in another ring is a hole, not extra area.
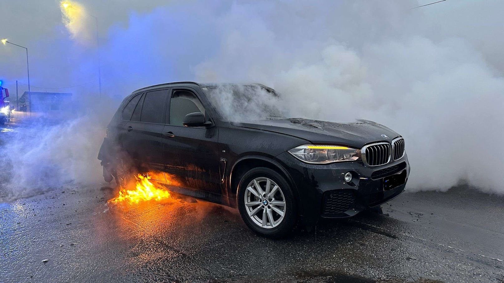
[[(270, 195), (265, 198), (268, 182)], [(257, 189), (257, 185), (261, 190)], [(261, 192), (263, 195), (259, 197)], [(297, 203), (291, 186), (276, 171), (257, 167), (243, 174), (238, 184), (236, 198), (243, 222), (255, 233), (278, 239), (291, 234), (294, 230), (297, 222)]]

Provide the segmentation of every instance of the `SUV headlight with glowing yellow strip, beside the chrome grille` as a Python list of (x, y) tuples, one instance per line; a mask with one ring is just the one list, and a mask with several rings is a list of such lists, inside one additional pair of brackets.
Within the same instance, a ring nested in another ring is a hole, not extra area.
[(343, 146), (302, 145), (288, 152), (306, 163), (327, 164), (360, 160), (360, 150)]

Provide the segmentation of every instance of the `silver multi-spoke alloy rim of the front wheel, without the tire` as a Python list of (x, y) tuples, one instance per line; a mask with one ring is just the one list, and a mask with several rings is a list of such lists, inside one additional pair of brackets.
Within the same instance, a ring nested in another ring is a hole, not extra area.
[(245, 211), (259, 227), (275, 228), (285, 217), (285, 197), (280, 186), (266, 177), (248, 183), (244, 195)]

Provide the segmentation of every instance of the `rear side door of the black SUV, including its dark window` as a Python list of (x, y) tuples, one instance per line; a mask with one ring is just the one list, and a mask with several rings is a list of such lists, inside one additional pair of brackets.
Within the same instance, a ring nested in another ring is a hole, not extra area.
[[(163, 171), (162, 131), (164, 127), (168, 89), (148, 91), (142, 95), (131, 120), (125, 123), (123, 148), (142, 171)], [(163, 174), (156, 178), (164, 181)]]

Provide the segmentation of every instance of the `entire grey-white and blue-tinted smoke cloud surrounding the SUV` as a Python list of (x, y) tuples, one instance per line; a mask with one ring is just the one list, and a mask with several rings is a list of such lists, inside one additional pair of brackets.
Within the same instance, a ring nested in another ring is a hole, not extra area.
[[(265, 84), (282, 95), (291, 117), (387, 125), (405, 137), (409, 190), (445, 190), (465, 179), (504, 193), (504, 38), (498, 36), (504, 4), (445, 1), (410, 10), (423, 4), (82, 2), (100, 20), (100, 48), (82, 44), (61, 24), (58, 3), (34, 4), (45, 16), (23, 25), (20, 18), (34, 8), (1, 4), (2, 11), (25, 14), (11, 18), (0, 34), (28, 45), (33, 85), (84, 84), (65, 89), (79, 107), (64, 125), (33, 133), (36, 142), (18, 140), (30, 155), (9, 148), (19, 157), (12, 172), (31, 172), (15, 183), (45, 188), (99, 181), (96, 153), (120, 100), (140, 87), (197, 80)], [(89, 23), (85, 28), (93, 31)], [(0, 50), (0, 72), (8, 74), (11, 89), (14, 80), (26, 81), (20, 52)], [(41, 178), (47, 168), (55, 173)]]

